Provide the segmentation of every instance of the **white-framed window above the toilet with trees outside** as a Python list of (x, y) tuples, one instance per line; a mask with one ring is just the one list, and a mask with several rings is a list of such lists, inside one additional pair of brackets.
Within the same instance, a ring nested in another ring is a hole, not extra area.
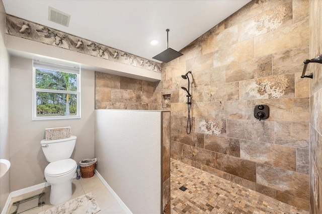
[(34, 61), (33, 119), (80, 118), (79, 68)]

